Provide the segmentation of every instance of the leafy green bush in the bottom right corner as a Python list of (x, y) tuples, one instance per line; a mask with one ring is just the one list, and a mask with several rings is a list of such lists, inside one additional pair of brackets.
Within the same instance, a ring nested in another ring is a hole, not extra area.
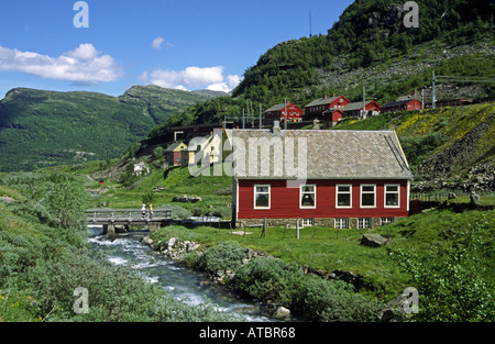
[(490, 281), (484, 278), (486, 244), (483, 221), (444, 233), (447, 238), (426, 252), (395, 249), (392, 257), (410, 275), (419, 291), (418, 321), (494, 321)]

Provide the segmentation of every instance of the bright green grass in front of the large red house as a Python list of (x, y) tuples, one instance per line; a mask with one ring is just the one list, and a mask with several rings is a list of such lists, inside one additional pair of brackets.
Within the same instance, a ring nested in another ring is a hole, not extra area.
[[(373, 230), (336, 230), (308, 226), (300, 229), (296, 238), (295, 229), (268, 228), (265, 237), (262, 229), (226, 230), (211, 226), (173, 225), (153, 233), (155, 242), (170, 237), (195, 241), (205, 246), (215, 246), (226, 241), (235, 241), (258, 252), (273, 255), (286, 263), (306, 265), (327, 271), (350, 270), (364, 276), (365, 288), (361, 292), (373, 293), (382, 300), (389, 300), (410, 287), (410, 278), (394, 259), (394, 252), (407, 249), (427, 253), (438, 245), (457, 247), (468, 240), (479, 240), (481, 245), (472, 252), (484, 262), (484, 278), (493, 284), (495, 270), (495, 211), (432, 210), (399, 220)], [(360, 244), (365, 233), (378, 233), (391, 240), (383, 247), (373, 248)], [(471, 248), (470, 248), (471, 249)]]

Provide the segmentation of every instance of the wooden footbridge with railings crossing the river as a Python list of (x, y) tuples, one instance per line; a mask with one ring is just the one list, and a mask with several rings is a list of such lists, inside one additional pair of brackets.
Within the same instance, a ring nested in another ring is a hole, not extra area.
[(146, 209), (144, 215), (141, 209), (88, 209), (86, 219), (88, 224), (102, 225), (108, 234), (127, 232), (131, 225), (148, 226), (150, 231), (156, 231), (172, 222), (172, 209), (156, 209), (153, 213)]

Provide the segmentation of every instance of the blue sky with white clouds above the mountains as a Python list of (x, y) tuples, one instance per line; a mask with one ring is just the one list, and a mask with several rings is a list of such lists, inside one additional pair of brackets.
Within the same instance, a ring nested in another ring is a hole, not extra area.
[(4, 1), (0, 99), (14, 87), (122, 95), (133, 85), (231, 90), (277, 43), (326, 34), (351, 0)]

